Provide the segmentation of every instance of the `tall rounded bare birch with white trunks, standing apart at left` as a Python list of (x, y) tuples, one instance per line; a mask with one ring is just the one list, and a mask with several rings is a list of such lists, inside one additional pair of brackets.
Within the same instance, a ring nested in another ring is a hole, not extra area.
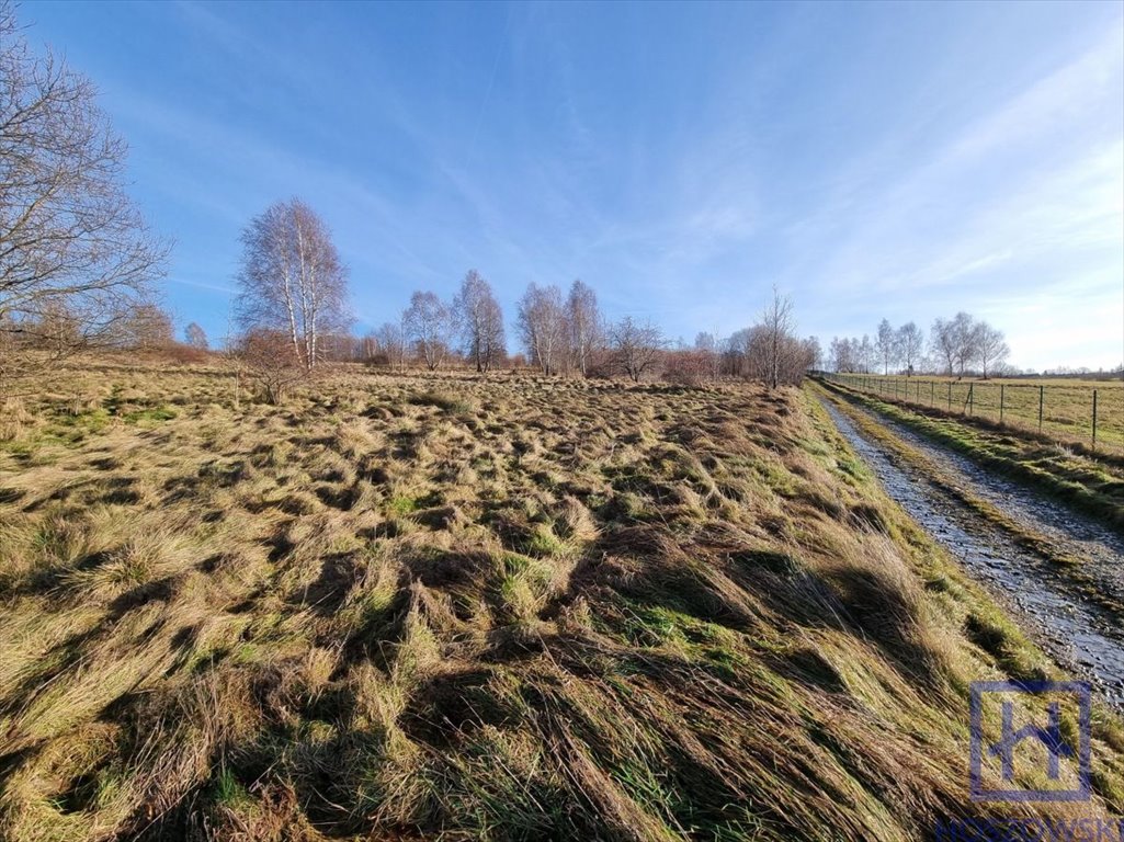
[(323, 359), (321, 335), (345, 331), (347, 270), (324, 220), (300, 199), (271, 205), (242, 233), (236, 302), (244, 332), (283, 331), (306, 372)]

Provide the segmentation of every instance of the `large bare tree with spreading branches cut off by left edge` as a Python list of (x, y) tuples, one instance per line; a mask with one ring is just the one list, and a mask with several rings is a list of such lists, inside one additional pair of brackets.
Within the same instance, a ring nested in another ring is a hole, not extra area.
[[(49, 51), (36, 57), (0, 2), (0, 389), (119, 336), (163, 274), (167, 246), (121, 185), (126, 154), (93, 84)], [(65, 334), (42, 335), (62, 313)]]

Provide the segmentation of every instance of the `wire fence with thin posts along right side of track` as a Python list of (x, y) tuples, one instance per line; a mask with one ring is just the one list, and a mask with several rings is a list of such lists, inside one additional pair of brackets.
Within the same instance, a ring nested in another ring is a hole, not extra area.
[(824, 373), (825, 380), (905, 404), (982, 417), (1094, 450), (1124, 452), (1124, 383), (923, 380)]

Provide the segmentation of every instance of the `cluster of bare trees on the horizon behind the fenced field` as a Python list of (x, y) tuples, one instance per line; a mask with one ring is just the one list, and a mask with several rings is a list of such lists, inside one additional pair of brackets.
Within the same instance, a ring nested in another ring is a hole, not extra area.
[(916, 324), (894, 328), (883, 318), (873, 342), (868, 335), (833, 338), (828, 364), (841, 372), (901, 372), (907, 377), (927, 372), (957, 378), (978, 373), (986, 379), (1007, 370), (1010, 348), (1001, 331), (961, 311), (933, 322), (925, 352), (925, 334)]

